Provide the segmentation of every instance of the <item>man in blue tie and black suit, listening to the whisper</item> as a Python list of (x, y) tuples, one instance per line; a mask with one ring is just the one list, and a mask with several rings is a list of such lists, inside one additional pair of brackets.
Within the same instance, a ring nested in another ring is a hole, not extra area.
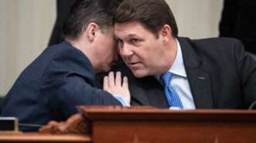
[[(236, 39), (178, 37), (175, 18), (164, 0), (124, 0), (114, 20), (125, 64), (136, 78), (145, 79), (145, 86), (157, 82), (144, 88), (155, 95), (145, 97), (130, 82), (131, 98), (148, 100), (149, 105), (155, 99), (162, 107), (179, 109), (248, 108), (256, 100), (256, 63)], [(159, 85), (165, 98), (159, 99), (154, 89)]]

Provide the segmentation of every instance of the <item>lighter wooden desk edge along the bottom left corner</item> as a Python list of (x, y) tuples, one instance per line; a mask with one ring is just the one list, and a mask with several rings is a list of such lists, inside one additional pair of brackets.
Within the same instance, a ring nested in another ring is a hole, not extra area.
[(0, 133), (0, 143), (91, 143), (87, 135), (44, 135), (37, 133)]

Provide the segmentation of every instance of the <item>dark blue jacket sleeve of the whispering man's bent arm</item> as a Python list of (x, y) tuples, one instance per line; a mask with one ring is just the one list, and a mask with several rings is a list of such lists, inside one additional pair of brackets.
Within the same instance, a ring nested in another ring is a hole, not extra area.
[(77, 113), (77, 105), (121, 105), (107, 91), (97, 88), (89, 60), (78, 50), (66, 50), (45, 69), (40, 92), (43, 103), (65, 117)]

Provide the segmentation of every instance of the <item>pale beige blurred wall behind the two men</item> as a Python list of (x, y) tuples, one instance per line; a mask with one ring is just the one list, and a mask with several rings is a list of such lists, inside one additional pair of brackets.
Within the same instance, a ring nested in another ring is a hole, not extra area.
[[(179, 36), (217, 37), (223, 0), (166, 0)], [(0, 96), (45, 49), (56, 20), (54, 0), (0, 0)]]

